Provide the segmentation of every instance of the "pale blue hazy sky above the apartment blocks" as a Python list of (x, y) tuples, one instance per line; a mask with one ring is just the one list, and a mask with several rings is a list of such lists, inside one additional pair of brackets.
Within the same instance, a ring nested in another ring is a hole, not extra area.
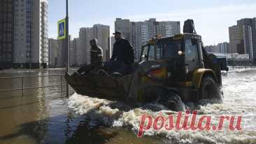
[[(57, 21), (66, 15), (66, 0), (49, 1), (49, 38), (57, 38)], [(78, 38), (80, 27), (106, 24), (115, 29), (115, 18), (144, 21), (180, 21), (194, 19), (197, 33), (205, 45), (229, 42), (229, 26), (245, 17), (256, 17), (255, 0), (69, 0), (69, 31)], [(180, 29), (183, 31), (183, 29)]]

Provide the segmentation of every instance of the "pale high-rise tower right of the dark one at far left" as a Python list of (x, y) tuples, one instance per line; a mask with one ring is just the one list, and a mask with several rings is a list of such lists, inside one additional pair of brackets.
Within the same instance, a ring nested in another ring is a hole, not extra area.
[(16, 0), (13, 33), (13, 63), (17, 67), (47, 67), (48, 0)]

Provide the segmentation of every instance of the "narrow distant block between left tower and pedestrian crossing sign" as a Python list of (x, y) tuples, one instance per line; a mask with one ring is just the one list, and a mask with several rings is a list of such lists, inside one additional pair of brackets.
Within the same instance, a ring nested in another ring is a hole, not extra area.
[(57, 49), (58, 49), (58, 40), (49, 38), (49, 67), (56, 67), (57, 65)]

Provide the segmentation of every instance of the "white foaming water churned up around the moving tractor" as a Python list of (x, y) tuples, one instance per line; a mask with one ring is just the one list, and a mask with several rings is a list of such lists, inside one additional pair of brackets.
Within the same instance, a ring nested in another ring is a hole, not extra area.
[[(224, 123), (223, 131), (166, 131), (164, 129), (145, 131), (147, 136), (161, 136), (177, 143), (256, 143), (256, 70), (229, 72), (223, 76), (224, 100), (222, 104), (208, 104), (199, 107), (200, 115), (211, 115), (212, 123), (218, 124), (220, 115), (243, 116), (242, 131), (230, 131), (228, 123)], [(69, 98), (69, 108), (91, 120), (90, 125), (97, 122), (109, 127), (129, 127), (134, 133), (138, 131), (141, 115), (148, 114), (155, 118), (173, 114), (161, 104), (146, 104), (130, 108), (126, 104), (111, 102), (74, 94)], [(191, 116), (191, 115), (190, 115)]]

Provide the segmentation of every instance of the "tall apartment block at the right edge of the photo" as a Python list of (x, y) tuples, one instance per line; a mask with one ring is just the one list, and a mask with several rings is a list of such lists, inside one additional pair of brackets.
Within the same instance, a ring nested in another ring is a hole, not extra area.
[(256, 19), (240, 19), (236, 26), (229, 27), (229, 41), (232, 53), (249, 54), (256, 60)]

